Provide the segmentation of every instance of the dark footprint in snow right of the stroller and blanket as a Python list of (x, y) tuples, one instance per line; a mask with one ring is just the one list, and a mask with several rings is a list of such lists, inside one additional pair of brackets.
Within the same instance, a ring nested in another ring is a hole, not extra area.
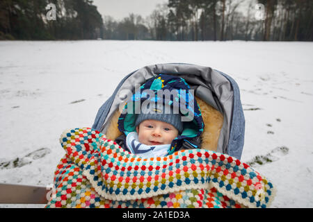
[(280, 146), (274, 148), (271, 152), (267, 153), (266, 155), (257, 155), (253, 157), (253, 159), (247, 162), (247, 164), (250, 165), (251, 167), (268, 164), (279, 160), (280, 157), (287, 155), (288, 153), (289, 148), (287, 146)]

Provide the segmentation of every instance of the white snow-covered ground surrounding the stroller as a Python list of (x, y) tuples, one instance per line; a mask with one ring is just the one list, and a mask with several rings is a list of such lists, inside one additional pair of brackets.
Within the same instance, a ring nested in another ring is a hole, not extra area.
[(241, 160), (277, 187), (271, 207), (313, 207), (312, 58), (313, 42), (0, 42), (0, 182), (51, 184), (63, 130), (91, 127), (131, 71), (186, 62), (238, 83)]

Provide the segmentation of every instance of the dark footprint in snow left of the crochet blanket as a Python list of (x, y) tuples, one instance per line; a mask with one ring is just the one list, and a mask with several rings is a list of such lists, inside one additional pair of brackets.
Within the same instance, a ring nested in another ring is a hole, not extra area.
[(28, 153), (24, 157), (16, 157), (14, 160), (0, 162), (0, 169), (12, 169), (17, 167), (23, 167), (27, 164), (31, 164), (33, 160), (38, 160), (45, 155), (51, 153), (49, 148), (39, 148), (36, 151)]

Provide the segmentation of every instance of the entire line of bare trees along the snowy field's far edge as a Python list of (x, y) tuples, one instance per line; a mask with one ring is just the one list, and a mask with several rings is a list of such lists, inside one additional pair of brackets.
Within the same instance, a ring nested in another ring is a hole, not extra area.
[[(47, 20), (47, 4), (56, 20)], [(168, 0), (117, 21), (89, 0), (1, 0), (0, 39), (312, 41), (311, 0)]]

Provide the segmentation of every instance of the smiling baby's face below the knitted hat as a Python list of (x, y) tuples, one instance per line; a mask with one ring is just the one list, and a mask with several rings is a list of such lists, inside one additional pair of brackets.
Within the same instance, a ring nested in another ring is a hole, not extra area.
[(178, 130), (169, 123), (147, 119), (136, 128), (141, 144), (161, 145), (171, 144), (178, 135)]

